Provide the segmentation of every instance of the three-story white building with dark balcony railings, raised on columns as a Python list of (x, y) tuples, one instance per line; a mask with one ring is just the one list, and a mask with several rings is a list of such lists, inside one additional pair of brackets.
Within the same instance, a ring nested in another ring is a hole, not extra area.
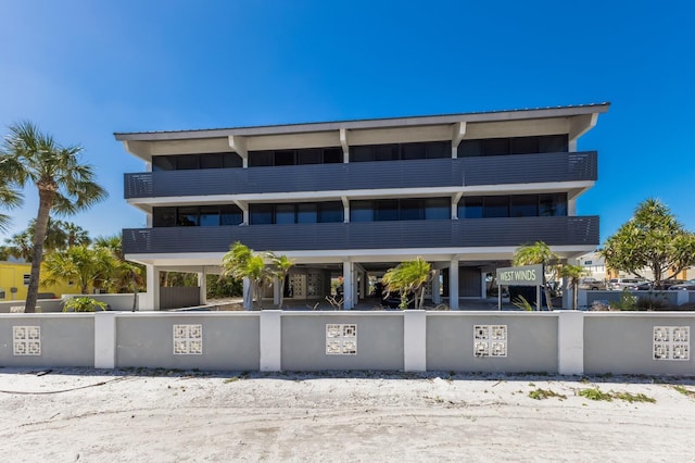
[(115, 134), (147, 171), (125, 175), (147, 228), (124, 230), (124, 252), (147, 265), (153, 309), (160, 271), (217, 272), (235, 241), (294, 259), (291, 298), (321, 300), (342, 277), (345, 309), (419, 255), (433, 302), (457, 309), (520, 245), (596, 248), (598, 217), (576, 203), (597, 154), (577, 143), (608, 107)]

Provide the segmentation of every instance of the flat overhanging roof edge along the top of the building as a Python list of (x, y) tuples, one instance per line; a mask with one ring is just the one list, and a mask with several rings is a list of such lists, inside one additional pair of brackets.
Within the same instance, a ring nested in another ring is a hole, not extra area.
[(420, 115), (406, 117), (382, 117), (368, 120), (349, 120), (333, 122), (313, 122), (299, 124), (261, 125), (230, 128), (199, 128), (190, 130), (155, 130), (155, 132), (116, 132), (116, 140), (176, 140), (211, 137), (258, 136), (301, 134), (311, 132), (328, 132), (344, 129), (369, 129), (403, 126), (426, 126), (439, 124), (455, 124), (457, 122), (495, 122), (518, 121), (547, 117), (569, 117), (583, 114), (605, 113), (610, 107), (609, 102), (577, 104), (568, 107), (548, 107), (517, 110), (484, 111), (458, 114)]

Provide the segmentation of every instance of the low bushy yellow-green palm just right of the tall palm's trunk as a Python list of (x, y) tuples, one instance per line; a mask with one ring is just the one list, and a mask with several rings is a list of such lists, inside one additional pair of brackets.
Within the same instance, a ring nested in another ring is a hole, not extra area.
[(41, 283), (55, 285), (58, 280), (76, 280), (83, 295), (89, 293), (89, 287), (102, 288), (116, 270), (118, 262), (104, 248), (74, 246), (64, 251), (46, 254), (43, 270), (46, 276)]

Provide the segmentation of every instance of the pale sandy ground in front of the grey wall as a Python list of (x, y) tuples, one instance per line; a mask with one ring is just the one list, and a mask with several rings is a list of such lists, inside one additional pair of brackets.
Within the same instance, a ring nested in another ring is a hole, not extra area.
[(693, 378), (42, 373), (0, 368), (3, 462), (695, 460)]

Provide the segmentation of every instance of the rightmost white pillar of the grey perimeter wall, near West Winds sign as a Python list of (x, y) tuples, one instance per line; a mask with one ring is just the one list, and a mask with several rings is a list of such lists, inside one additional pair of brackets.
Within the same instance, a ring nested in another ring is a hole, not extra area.
[(579, 311), (557, 313), (557, 371), (560, 375), (584, 373), (584, 314)]

